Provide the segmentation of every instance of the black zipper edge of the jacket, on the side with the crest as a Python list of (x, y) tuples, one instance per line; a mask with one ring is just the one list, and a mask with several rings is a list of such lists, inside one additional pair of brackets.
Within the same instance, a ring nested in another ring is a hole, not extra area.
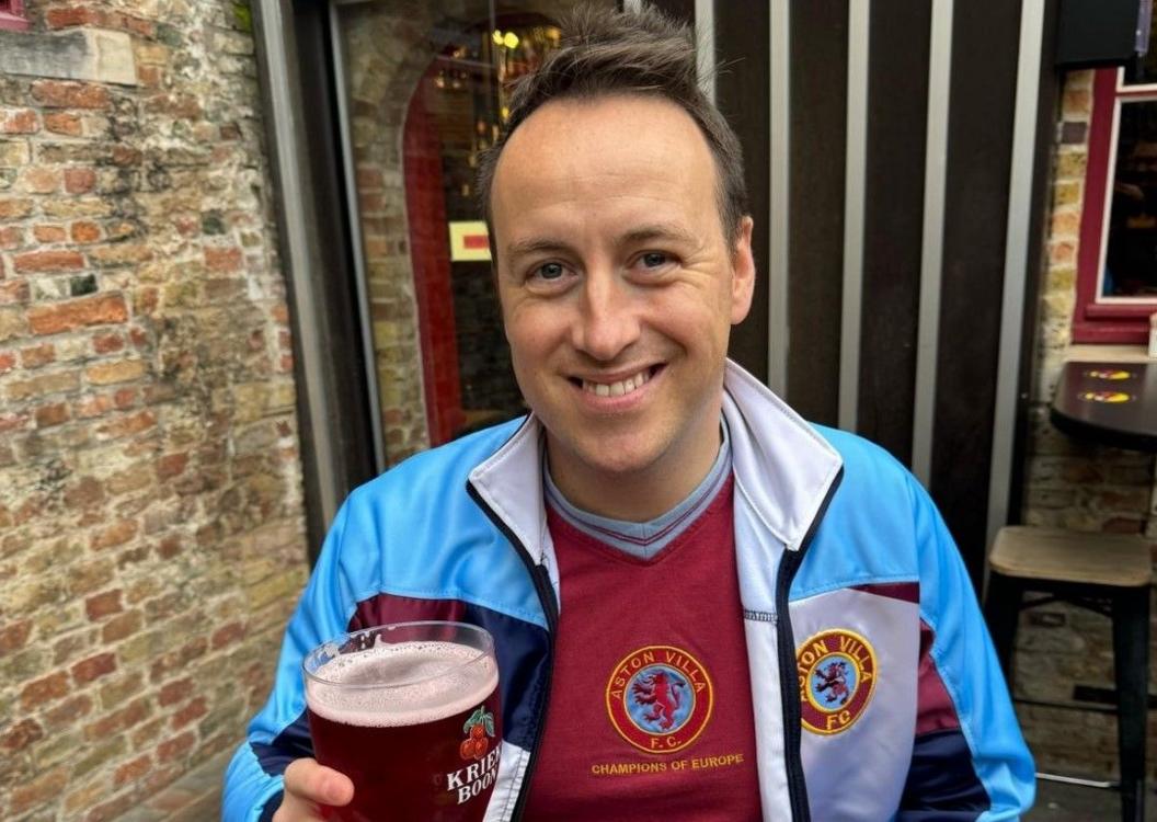
[(832, 480), (831, 487), (824, 496), (824, 501), (816, 513), (816, 518), (808, 527), (808, 533), (799, 543), (796, 551), (784, 551), (780, 559), (780, 570), (775, 579), (775, 612), (779, 618), (775, 621), (776, 643), (779, 645), (780, 661), (780, 693), (783, 707), (783, 758), (788, 776), (788, 798), (791, 802), (791, 819), (795, 822), (810, 822), (811, 809), (808, 806), (808, 783), (803, 773), (803, 758), (799, 754), (799, 743), (803, 735), (803, 720), (799, 714), (799, 681), (796, 677), (795, 637), (791, 632), (791, 611), (789, 610), (789, 594), (791, 580), (803, 564), (803, 556), (808, 551), (816, 530), (819, 528), (827, 506), (835, 496), (835, 490), (840, 487), (843, 479), (843, 468), (841, 467)]

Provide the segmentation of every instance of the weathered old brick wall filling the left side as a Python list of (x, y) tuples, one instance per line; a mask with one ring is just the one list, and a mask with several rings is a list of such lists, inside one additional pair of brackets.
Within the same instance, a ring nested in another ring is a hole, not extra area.
[(233, 747), (305, 575), (248, 8), (0, 32), (0, 819)]

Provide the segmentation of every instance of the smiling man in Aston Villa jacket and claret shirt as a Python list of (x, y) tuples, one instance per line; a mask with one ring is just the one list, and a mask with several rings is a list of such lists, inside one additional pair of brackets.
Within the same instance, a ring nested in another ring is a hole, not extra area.
[(1032, 762), (935, 508), (725, 359), (752, 221), (690, 38), (654, 12), (566, 34), (480, 176), (532, 413), (351, 496), (226, 816), (349, 801), (309, 758), (311, 645), (457, 618), (502, 669), (488, 820), (1017, 819)]

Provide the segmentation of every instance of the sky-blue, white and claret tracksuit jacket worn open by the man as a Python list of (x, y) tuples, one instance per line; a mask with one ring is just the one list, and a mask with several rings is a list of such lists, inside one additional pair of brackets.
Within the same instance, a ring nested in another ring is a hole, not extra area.
[[(882, 449), (810, 426), (732, 362), (723, 417), (764, 820), (1018, 819), (1032, 803), (1032, 758), (924, 491)], [(347, 630), (411, 619), (494, 634), (504, 740), (486, 820), (521, 817), (566, 585), (541, 448), (530, 416), (413, 456), (349, 496), (289, 622), (268, 703), (229, 765), (226, 820), (271, 817), (286, 765), (311, 755), (303, 655)], [(819, 710), (831, 691), (819, 692), (817, 660), (849, 638), (853, 655), (824, 658), (856, 668), (839, 680), (846, 710)]]

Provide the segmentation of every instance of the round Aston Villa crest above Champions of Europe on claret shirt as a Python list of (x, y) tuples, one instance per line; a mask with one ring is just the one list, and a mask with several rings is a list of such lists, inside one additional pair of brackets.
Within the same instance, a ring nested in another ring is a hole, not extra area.
[(707, 727), (714, 699), (707, 669), (671, 645), (627, 654), (606, 683), (611, 725), (649, 754), (673, 754), (694, 742)]

